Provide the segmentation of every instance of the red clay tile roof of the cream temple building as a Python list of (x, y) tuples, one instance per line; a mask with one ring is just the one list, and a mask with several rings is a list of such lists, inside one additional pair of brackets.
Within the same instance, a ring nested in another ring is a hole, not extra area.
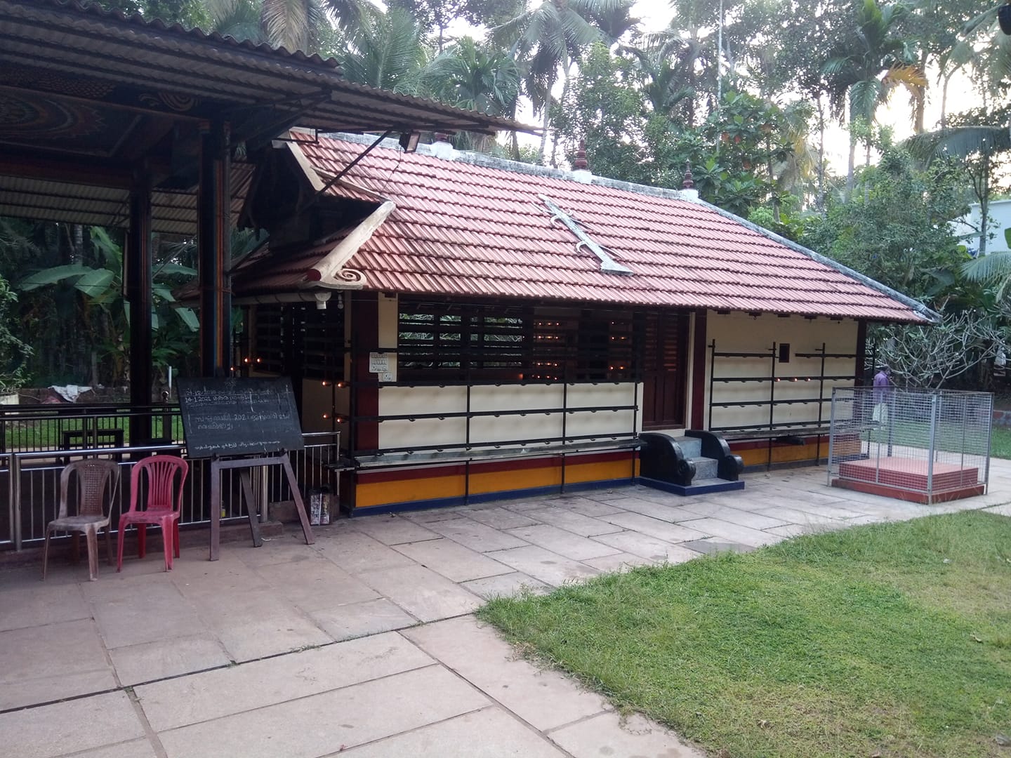
[[(305, 138), (299, 147), (311, 166), (330, 175), (365, 148), (327, 137)], [(467, 155), (445, 160), (380, 147), (347, 174), (396, 203), (348, 263), (365, 275), (367, 288), (883, 321), (936, 318), (921, 303), (674, 191), (595, 178), (584, 184), (562, 172)], [(541, 196), (632, 274), (602, 272), (601, 260), (577, 249), (569, 228), (552, 222)]]

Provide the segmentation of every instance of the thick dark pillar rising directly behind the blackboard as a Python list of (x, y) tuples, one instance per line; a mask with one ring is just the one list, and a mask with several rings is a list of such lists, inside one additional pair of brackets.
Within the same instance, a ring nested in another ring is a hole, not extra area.
[(197, 251), (200, 283), (200, 373), (223, 376), (232, 365), (232, 188), (228, 126), (215, 121), (200, 134)]

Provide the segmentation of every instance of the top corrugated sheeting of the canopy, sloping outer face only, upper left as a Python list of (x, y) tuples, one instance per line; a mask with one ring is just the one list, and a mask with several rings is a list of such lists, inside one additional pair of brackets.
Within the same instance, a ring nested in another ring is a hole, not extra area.
[(86, 72), (110, 83), (155, 87), (233, 108), (272, 106), (299, 114), (298, 125), (310, 128), (527, 128), (509, 119), (352, 84), (341, 77), (333, 59), (149, 22), (70, 0), (0, 0), (0, 62), (72, 76)]

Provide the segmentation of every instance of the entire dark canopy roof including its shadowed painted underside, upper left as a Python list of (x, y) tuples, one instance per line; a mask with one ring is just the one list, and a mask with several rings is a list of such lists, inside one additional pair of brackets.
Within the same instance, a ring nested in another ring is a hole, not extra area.
[[(39, 220), (124, 225), (143, 164), (154, 181), (154, 230), (194, 233), (199, 133), (214, 120), (228, 123), (249, 156), (293, 125), (518, 127), (352, 84), (334, 60), (73, 0), (0, 0), (0, 215)], [(237, 211), (249, 175), (234, 166)]]

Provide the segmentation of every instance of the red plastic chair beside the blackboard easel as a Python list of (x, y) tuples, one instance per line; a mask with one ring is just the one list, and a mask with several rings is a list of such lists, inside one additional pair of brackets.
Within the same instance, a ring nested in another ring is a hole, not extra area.
[[(176, 473), (179, 472), (179, 488), (173, 492)], [(129, 510), (119, 516), (119, 539), (116, 546), (116, 571), (123, 567), (123, 537), (126, 528), (136, 527), (137, 555), (147, 553), (148, 525), (162, 528), (162, 542), (165, 545), (165, 570), (172, 570), (172, 554), (179, 557), (179, 509), (183, 499), (183, 483), (189, 473), (189, 464), (176, 456), (151, 456), (133, 464), (129, 482)], [(147, 485), (144, 510), (137, 510), (136, 503), (142, 488), (142, 477)]]

